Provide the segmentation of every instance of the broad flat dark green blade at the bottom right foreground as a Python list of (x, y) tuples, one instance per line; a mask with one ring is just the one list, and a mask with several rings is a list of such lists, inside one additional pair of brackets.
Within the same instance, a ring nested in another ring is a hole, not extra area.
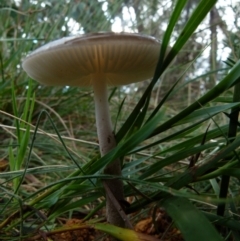
[(186, 241), (223, 241), (213, 225), (188, 199), (166, 197), (160, 202)]

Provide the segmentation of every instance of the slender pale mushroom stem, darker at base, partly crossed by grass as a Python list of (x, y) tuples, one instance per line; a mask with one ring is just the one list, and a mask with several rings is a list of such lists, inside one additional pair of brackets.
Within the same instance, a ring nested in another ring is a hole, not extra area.
[[(107, 85), (105, 77), (97, 75), (93, 77), (94, 102), (96, 112), (96, 125), (101, 156), (104, 156), (116, 146), (116, 140), (112, 129), (111, 117), (109, 114)], [(109, 164), (105, 174), (121, 176), (121, 161), (117, 159)], [(118, 202), (124, 200), (123, 183), (121, 179), (104, 180), (108, 188)], [(105, 189), (106, 193), (107, 190)], [(121, 218), (108, 195), (106, 195), (107, 221), (116, 226), (124, 227), (125, 222)]]

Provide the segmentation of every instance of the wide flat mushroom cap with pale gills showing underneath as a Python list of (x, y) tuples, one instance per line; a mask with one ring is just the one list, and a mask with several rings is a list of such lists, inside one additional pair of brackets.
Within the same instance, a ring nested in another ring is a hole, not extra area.
[(23, 69), (38, 82), (54, 86), (90, 86), (93, 77), (107, 85), (126, 85), (153, 76), (160, 43), (131, 33), (95, 33), (65, 37), (30, 53)]

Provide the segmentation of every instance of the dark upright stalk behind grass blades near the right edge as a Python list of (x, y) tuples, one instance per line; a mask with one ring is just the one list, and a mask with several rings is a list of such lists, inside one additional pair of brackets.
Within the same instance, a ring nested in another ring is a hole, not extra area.
[[(240, 101), (240, 84), (236, 84), (234, 86), (233, 102), (236, 102), (236, 101)], [(230, 114), (229, 131), (228, 131), (229, 142), (232, 142), (237, 135), (238, 114), (239, 114), (239, 107), (236, 107), (236, 106), (232, 107), (231, 114)], [(226, 159), (225, 161), (229, 161), (229, 160)], [(222, 176), (219, 198), (227, 197), (229, 181), (230, 181), (230, 176), (228, 175)], [(225, 206), (226, 206), (225, 203), (218, 204), (217, 215), (219, 216), (224, 215)]]

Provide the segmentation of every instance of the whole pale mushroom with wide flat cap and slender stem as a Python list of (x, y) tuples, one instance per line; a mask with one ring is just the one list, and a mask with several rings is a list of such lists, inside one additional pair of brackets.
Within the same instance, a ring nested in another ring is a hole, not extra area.
[[(121, 86), (153, 76), (160, 43), (152, 37), (131, 33), (94, 33), (65, 37), (29, 54), (23, 69), (34, 80), (52, 86), (93, 86), (96, 126), (101, 155), (116, 146), (108, 106), (107, 86)], [(104, 173), (121, 176), (121, 162), (115, 160)], [(114, 197), (124, 200), (120, 179), (107, 181)], [(107, 219), (124, 226), (111, 200)]]

